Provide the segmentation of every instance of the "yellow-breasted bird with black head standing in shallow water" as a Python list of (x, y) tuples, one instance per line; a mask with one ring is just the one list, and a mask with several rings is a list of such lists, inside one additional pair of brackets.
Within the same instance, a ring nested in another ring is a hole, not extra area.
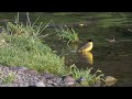
[(78, 52), (79, 52), (79, 53), (80, 53), (80, 52), (81, 52), (81, 53), (84, 53), (84, 52), (89, 52), (89, 51), (92, 50), (92, 47), (94, 47), (92, 40), (89, 40), (87, 44), (85, 44), (82, 47), (80, 47), (80, 48), (78, 50)]

